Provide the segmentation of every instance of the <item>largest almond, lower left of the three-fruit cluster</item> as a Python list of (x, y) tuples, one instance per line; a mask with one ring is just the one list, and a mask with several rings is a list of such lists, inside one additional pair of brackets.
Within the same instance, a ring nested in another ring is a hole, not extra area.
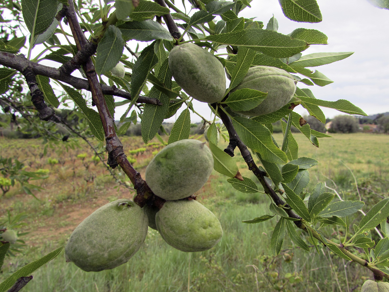
[(143, 209), (133, 201), (110, 202), (76, 227), (65, 246), (65, 259), (87, 272), (113, 269), (139, 250), (148, 223)]

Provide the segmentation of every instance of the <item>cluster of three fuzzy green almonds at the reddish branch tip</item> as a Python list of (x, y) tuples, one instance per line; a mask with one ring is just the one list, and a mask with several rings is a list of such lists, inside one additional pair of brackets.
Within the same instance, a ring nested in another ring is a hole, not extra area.
[(184, 252), (216, 245), (223, 235), (219, 220), (190, 197), (208, 180), (213, 158), (205, 142), (180, 140), (163, 148), (146, 169), (151, 190), (167, 200), (161, 209), (133, 201), (110, 202), (82, 221), (65, 247), (65, 258), (84, 271), (112, 269), (140, 248), (148, 226), (166, 243)]

